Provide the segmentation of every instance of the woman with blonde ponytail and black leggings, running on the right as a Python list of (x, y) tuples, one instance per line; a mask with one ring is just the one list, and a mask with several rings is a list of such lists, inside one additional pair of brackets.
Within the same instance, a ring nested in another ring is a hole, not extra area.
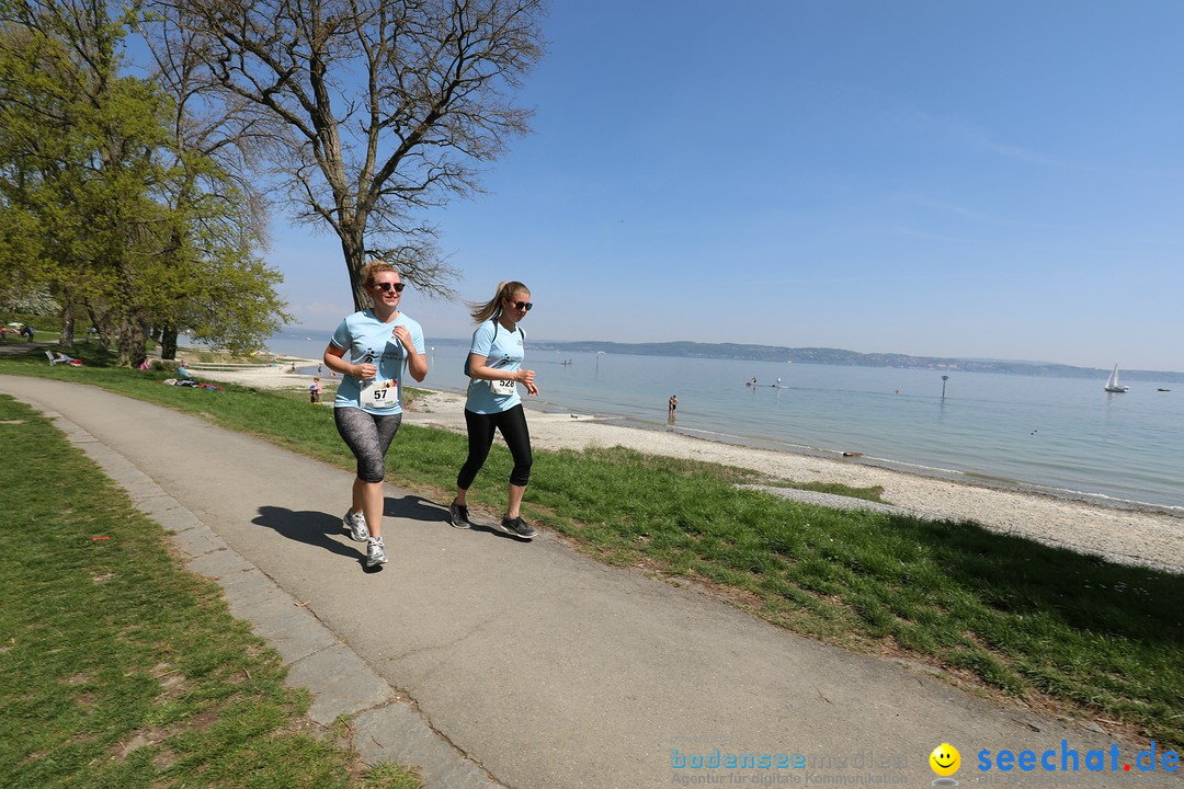
[(539, 394), (534, 386), (534, 370), (522, 367), (526, 335), (519, 322), (534, 306), (530, 290), (520, 282), (503, 282), (497, 292), (484, 303), (470, 303), (477, 330), (469, 345), (469, 396), (464, 405), (464, 421), (469, 428), (469, 457), (456, 478), (456, 499), (449, 505), (449, 516), (457, 529), (469, 529), (468, 494), (477, 472), (489, 457), (494, 431), (501, 431), (514, 458), (510, 472), (506, 515), (495, 528), (520, 539), (532, 539), (538, 532), (522, 519), (520, 507), (527, 483), (530, 480), (530, 431), (527, 428), (517, 383), (532, 397)]

